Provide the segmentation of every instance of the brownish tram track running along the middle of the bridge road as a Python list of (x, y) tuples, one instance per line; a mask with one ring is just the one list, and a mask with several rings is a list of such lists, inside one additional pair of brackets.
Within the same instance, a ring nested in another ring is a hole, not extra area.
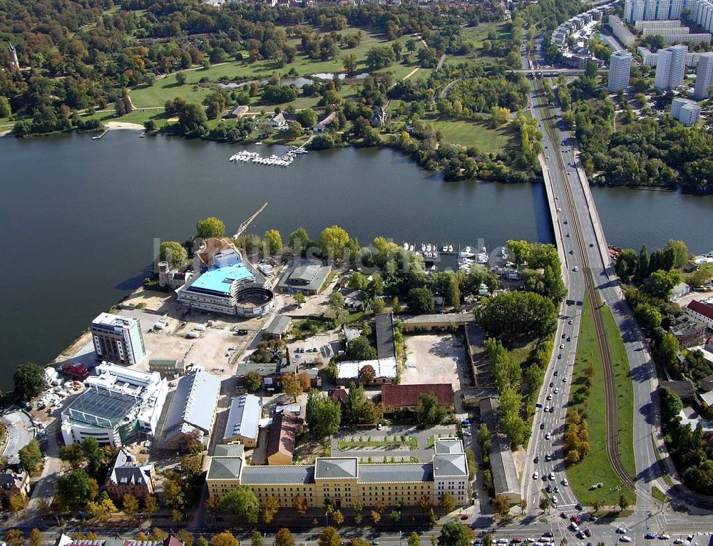
[[(532, 59), (530, 59), (532, 63)], [(544, 96), (545, 90), (542, 82), (535, 78), (535, 90), (537, 91), (537, 96)], [(550, 124), (549, 118), (551, 116), (550, 108), (546, 103), (540, 103), (538, 98), (538, 104), (545, 109), (546, 120), (543, 125), (548, 135), (550, 135), (550, 140), (553, 144), (559, 147), (558, 133), (555, 128)], [(556, 156), (555, 161), (558, 163), (558, 176), (562, 180), (563, 188), (565, 189), (565, 199), (568, 202), (568, 206), (571, 212), (577, 210), (575, 206), (575, 201), (572, 193), (572, 188), (570, 187), (570, 182), (567, 178), (565, 164), (562, 159), (562, 155), (559, 150), (553, 150)], [(612, 356), (609, 350), (609, 343), (607, 340), (607, 331), (604, 326), (604, 317), (602, 316), (601, 307), (602, 305), (597, 298), (597, 292), (595, 289), (594, 279), (592, 277), (592, 269), (589, 263), (589, 257), (587, 254), (587, 249), (585, 246), (585, 238), (582, 232), (582, 226), (580, 225), (579, 217), (576, 214), (572, 214), (570, 217), (570, 225), (573, 227), (574, 240), (577, 245), (578, 252), (580, 253), (580, 258), (582, 260), (582, 269), (585, 280), (585, 294), (587, 295), (590, 305), (592, 307), (592, 314), (594, 317), (594, 325), (597, 334), (597, 345), (599, 346), (600, 354), (602, 356), (602, 369), (604, 369), (604, 381), (605, 381), (605, 401), (607, 406), (606, 413), (606, 423), (607, 423), (607, 438), (606, 438), (606, 448), (607, 448), (607, 458), (612, 465), (615, 473), (622, 481), (624, 485), (635, 490), (635, 482), (631, 475), (627, 472), (624, 464), (621, 461), (619, 454), (619, 418), (617, 410), (617, 394), (616, 385), (614, 381), (614, 368), (612, 366)]]

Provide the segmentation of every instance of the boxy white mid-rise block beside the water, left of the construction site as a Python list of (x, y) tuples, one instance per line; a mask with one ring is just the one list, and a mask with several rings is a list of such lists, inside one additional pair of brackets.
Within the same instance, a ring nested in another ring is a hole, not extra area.
[(101, 313), (91, 323), (94, 351), (113, 364), (131, 366), (146, 356), (146, 347), (138, 319)]

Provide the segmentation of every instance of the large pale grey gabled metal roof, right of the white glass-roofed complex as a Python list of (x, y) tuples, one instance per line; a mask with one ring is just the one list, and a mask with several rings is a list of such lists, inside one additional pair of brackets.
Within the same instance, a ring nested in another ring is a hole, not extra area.
[(195, 370), (180, 378), (168, 409), (166, 436), (174, 436), (184, 423), (210, 432), (219, 394), (220, 379), (207, 371)]

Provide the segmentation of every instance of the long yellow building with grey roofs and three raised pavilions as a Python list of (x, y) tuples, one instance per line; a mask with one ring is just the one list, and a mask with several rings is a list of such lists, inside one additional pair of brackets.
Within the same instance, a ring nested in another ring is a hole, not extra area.
[(457, 438), (441, 438), (430, 463), (360, 464), (356, 457), (317, 458), (312, 466), (251, 466), (238, 451), (218, 446), (208, 465), (208, 493), (222, 498), (237, 485), (248, 485), (262, 504), (275, 496), (291, 507), (299, 495), (310, 508), (327, 500), (336, 508), (359, 501), (364, 506), (416, 505), (422, 497), (438, 505), (451, 493), (456, 505), (468, 503), (468, 463)]

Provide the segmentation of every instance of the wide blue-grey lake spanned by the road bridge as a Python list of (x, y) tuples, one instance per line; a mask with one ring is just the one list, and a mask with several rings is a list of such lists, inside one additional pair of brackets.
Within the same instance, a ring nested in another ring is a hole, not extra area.
[[(378, 236), (401, 244), (552, 241), (540, 184), (443, 182), (393, 150), (344, 148), (299, 155), (289, 168), (229, 163), (242, 146), (135, 131), (48, 138), (0, 138), (0, 388), (21, 361), (46, 363), (150, 274), (155, 239), (183, 241), (216, 216), (227, 232), (263, 202), (249, 232), (275, 228), (287, 241), (341, 225), (362, 245)], [(607, 239), (650, 250), (683, 239), (713, 249), (713, 196), (593, 188)]]

